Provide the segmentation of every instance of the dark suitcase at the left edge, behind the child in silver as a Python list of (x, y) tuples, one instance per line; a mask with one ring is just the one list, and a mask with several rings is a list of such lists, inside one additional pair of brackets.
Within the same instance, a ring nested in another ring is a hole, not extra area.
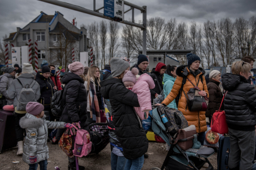
[(11, 111), (0, 110), (0, 153), (16, 145), (15, 116)]

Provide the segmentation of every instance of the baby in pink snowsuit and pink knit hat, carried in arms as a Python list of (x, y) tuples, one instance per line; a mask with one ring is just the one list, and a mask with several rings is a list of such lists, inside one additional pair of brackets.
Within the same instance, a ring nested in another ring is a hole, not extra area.
[(125, 71), (122, 81), (124, 82), (125, 88), (131, 89), (132, 92), (137, 94), (140, 107), (134, 107), (134, 109), (136, 110), (139, 118), (144, 120), (144, 112), (146, 112), (148, 118), (148, 113), (150, 110), (152, 110), (151, 94), (149, 89), (154, 88), (154, 81), (151, 76), (146, 73), (139, 76), (136, 81), (136, 75), (138, 73), (139, 71), (136, 68), (133, 68), (132, 71)]

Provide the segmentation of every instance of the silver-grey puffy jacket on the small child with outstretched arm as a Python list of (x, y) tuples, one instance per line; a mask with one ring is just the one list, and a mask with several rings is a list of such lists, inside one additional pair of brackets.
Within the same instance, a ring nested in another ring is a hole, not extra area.
[(64, 128), (64, 122), (50, 122), (43, 118), (37, 118), (26, 113), (20, 119), (20, 127), (26, 129), (26, 137), (23, 146), (23, 161), (30, 163), (30, 156), (37, 156), (37, 162), (49, 159), (47, 147), (48, 128)]

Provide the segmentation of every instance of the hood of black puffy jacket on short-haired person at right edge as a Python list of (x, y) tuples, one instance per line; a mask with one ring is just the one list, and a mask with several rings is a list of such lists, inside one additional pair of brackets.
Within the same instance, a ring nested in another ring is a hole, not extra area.
[(223, 74), (223, 76), (221, 76), (221, 81), (223, 89), (226, 91), (233, 91), (241, 82), (248, 83), (245, 77), (231, 73)]

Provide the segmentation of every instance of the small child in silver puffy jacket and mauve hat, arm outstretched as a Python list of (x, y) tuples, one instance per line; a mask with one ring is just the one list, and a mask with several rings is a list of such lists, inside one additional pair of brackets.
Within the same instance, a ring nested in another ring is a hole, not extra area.
[(20, 119), (20, 127), (26, 129), (23, 147), (23, 161), (30, 169), (47, 169), (49, 149), (47, 147), (48, 128), (65, 128), (70, 124), (45, 120), (44, 106), (41, 103), (29, 102), (26, 115)]

